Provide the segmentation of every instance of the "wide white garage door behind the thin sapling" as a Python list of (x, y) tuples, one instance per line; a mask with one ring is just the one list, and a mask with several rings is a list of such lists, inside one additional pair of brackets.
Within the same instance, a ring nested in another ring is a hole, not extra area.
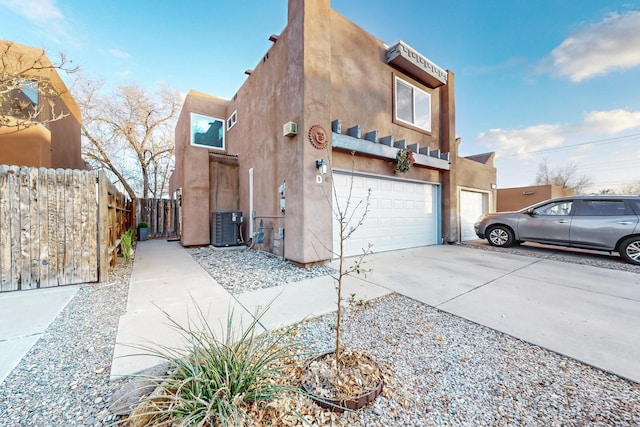
[[(367, 191), (371, 189), (364, 223), (345, 241), (346, 256), (361, 254), (369, 243), (374, 252), (436, 244), (438, 215), (434, 185), (341, 173), (334, 173), (333, 178), (342, 210), (347, 206), (353, 178), (349, 211), (358, 203), (360, 206), (352, 216), (351, 225), (362, 217)], [(339, 225), (335, 218), (333, 222), (333, 248), (338, 254)]]

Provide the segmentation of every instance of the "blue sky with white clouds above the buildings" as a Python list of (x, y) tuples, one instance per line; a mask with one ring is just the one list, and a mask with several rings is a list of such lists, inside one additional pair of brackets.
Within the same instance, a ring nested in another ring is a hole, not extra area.
[[(591, 191), (640, 179), (640, 0), (332, 0), (455, 73), (460, 154), (498, 186), (569, 162)], [(286, 25), (286, 0), (0, 0), (0, 38), (60, 51), (109, 85), (230, 98)]]

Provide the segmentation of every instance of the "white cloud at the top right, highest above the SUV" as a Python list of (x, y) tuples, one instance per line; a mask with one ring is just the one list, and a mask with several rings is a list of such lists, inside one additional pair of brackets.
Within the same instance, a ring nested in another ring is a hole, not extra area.
[(551, 61), (574, 82), (640, 65), (640, 11), (581, 28), (551, 52)]

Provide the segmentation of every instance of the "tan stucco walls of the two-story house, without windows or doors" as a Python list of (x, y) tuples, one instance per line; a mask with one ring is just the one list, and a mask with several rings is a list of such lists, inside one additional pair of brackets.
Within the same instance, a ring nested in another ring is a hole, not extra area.
[[(266, 242), (263, 250), (285, 253), (301, 264), (330, 258), (332, 247), (331, 174), (316, 180), (316, 160), (327, 159), (333, 168), (396, 177), (388, 159), (357, 154), (352, 164), (349, 152), (318, 150), (308, 138), (313, 125), (322, 126), (331, 138), (331, 123), (341, 119), (343, 133), (360, 125), (362, 135), (378, 130), (408, 144), (450, 153), (451, 172), (416, 166), (401, 178), (440, 184), (443, 204), (442, 234), (445, 241), (458, 235), (457, 174), (473, 180), (473, 172), (460, 172), (456, 163), (454, 75), (448, 84), (433, 89), (386, 64), (383, 42), (368, 34), (330, 8), (329, 0), (290, 0), (288, 25), (270, 47), (245, 83), (229, 101), (190, 93), (176, 127), (176, 170), (172, 190), (183, 188), (183, 238), (185, 245), (207, 244), (208, 221), (203, 206), (211, 199), (211, 177), (215, 173), (198, 156), (202, 148), (189, 147), (188, 113), (191, 111), (227, 119), (234, 111), (237, 123), (226, 132), (226, 153), (237, 156), (238, 206), (244, 213), (245, 238), (252, 221), (249, 200), (249, 170), (254, 172), (255, 228), (262, 219)], [(431, 93), (432, 130), (425, 132), (394, 123), (394, 76)], [(200, 111), (198, 111), (200, 109)], [(205, 111), (206, 110), (206, 111)], [(214, 112), (215, 111), (215, 112)], [(224, 111), (224, 112), (222, 112)], [(282, 135), (286, 122), (298, 124), (298, 134)], [(464, 161), (461, 162), (464, 167)], [(485, 167), (481, 165), (481, 169)], [(491, 175), (493, 172), (493, 175)], [(466, 174), (466, 175), (465, 175)], [(495, 169), (479, 172), (478, 179)], [(279, 209), (278, 187), (286, 182), (286, 210)], [(191, 194), (189, 194), (191, 193)], [(286, 230), (286, 250), (276, 247), (274, 235)]]

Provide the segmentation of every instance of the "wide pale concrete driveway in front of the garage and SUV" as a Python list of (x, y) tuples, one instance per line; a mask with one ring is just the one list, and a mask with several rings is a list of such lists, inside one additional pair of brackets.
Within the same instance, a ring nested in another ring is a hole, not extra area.
[(461, 246), (367, 258), (365, 280), (640, 382), (640, 274)]

